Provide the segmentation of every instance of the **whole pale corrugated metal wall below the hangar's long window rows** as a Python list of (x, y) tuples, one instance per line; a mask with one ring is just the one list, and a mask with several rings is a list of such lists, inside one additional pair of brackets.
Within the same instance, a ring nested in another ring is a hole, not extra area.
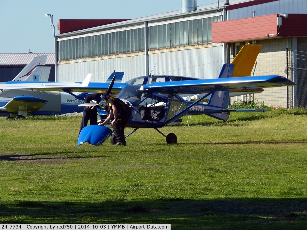
[[(104, 82), (115, 70), (125, 72), (122, 81), (126, 82), (145, 75), (144, 52), (139, 54), (60, 63), (59, 81), (82, 82), (86, 75), (91, 73), (91, 82)], [(218, 77), (223, 66), (223, 46), (210, 44), (196, 49), (151, 53), (148, 60), (149, 72), (153, 70), (153, 75), (179, 75), (212, 79)]]

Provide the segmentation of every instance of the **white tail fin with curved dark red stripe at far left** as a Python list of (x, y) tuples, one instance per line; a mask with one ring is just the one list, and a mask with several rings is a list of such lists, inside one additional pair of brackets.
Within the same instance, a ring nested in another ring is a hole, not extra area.
[[(38, 67), (38, 65), (45, 65), (46, 60), (47, 55), (35, 56), (12, 81), (33, 81), (34, 78), (39, 78), (38, 74), (36, 76), (33, 75), (33, 71)], [(33, 76), (33, 78), (29, 78), (30, 76)]]

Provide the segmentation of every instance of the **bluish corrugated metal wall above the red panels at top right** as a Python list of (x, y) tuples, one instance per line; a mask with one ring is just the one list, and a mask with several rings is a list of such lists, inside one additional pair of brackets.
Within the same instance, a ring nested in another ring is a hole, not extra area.
[(255, 16), (273, 13), (307, 13), (307, 4), (306, 0), (279, 0), (248, 6), (227, 11), (227, 20), (253, 17), (253, 10), (256, 10)]

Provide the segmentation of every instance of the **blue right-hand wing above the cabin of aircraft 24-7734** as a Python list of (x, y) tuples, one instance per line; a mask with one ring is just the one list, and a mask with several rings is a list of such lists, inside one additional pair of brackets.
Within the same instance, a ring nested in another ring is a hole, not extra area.
[(279, 75), (232, 77), (218, 79), (200, 79), (178, 82), (155, 82), (142, 86), (144, 90), (168, 91), (176, 94), (205, 93), (218, 88), (219, 90), (258, 89), (280, 86), (295, 86), (289, 79)]

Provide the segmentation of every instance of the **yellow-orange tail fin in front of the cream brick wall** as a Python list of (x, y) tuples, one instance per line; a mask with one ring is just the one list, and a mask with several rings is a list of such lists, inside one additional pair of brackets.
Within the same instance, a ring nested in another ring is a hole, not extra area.
[(234, 64), (233, 77), (247, 77), (251, 76), (251, 71), (254, 68), (255, 61), (260, 53), (260, 44), (246, 44), (243, 45), (235, 59), (231, 62)]

